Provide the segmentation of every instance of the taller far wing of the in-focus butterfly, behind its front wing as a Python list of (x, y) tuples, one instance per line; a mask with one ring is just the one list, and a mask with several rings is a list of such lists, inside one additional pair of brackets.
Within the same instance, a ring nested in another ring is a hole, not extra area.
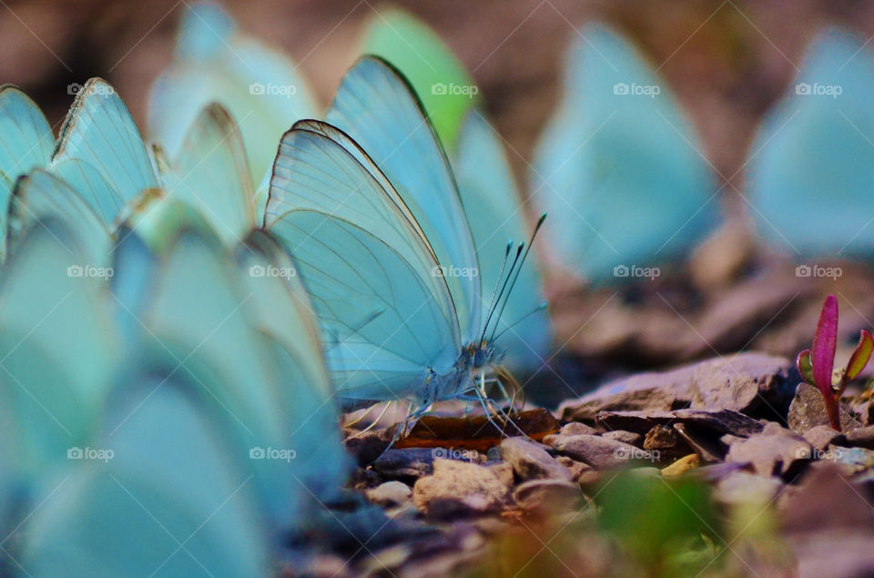
[[(391, 66), (364, 57), (343, 77), (327, 113), (373, 159), (421, 224), (444, 267), (477, 269), (449, 161), (410, 86)], [(463, 340), (482, 328), (479, 277), (447, 277)]]

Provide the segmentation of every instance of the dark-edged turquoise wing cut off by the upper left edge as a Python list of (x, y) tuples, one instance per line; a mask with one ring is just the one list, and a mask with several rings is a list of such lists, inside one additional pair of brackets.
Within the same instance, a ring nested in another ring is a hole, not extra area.
[(0, 225), (15, 180), (52, 157), (55, 135), (38, 106), (16, 86), (0, 86)]

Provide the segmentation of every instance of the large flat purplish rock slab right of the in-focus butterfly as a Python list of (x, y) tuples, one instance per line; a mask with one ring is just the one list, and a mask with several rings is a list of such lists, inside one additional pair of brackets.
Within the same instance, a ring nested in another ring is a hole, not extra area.
[(752, 411), (785, 393), (791, 361), (746, 352), (681, 367), (640, 373), (607, 383), (559, 408), (569, 421), (593, 421), (598, 411), (699, 410)]

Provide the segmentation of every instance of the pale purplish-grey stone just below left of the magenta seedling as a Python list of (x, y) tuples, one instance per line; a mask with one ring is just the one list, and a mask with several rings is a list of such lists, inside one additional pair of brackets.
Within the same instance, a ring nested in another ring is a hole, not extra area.
[(798, 433), (771, 422), (761, 433), (732, 443), (726, 461), (749, 463), (759, 475), (782, 475), (808, 460), (811, 452), (810, 443)]

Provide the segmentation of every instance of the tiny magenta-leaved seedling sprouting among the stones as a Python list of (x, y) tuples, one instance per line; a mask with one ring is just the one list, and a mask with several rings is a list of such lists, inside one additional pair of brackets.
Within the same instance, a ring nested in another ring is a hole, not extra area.
[(859, 345), (849, 357), (847, 367), (835, 370), (835, 348), (838, 344), (838, 299), (829, 295), (819, 313), (817, 332), (813, 336), (812, 350), (798, 353), (796, 365), (801, 377), (816, 386), (826, 402), (828, 421), (840, 431), (840, 396), (847, 384), (865, 369), (874, 350), (874, 340), (867, 330), (859, 335)]

